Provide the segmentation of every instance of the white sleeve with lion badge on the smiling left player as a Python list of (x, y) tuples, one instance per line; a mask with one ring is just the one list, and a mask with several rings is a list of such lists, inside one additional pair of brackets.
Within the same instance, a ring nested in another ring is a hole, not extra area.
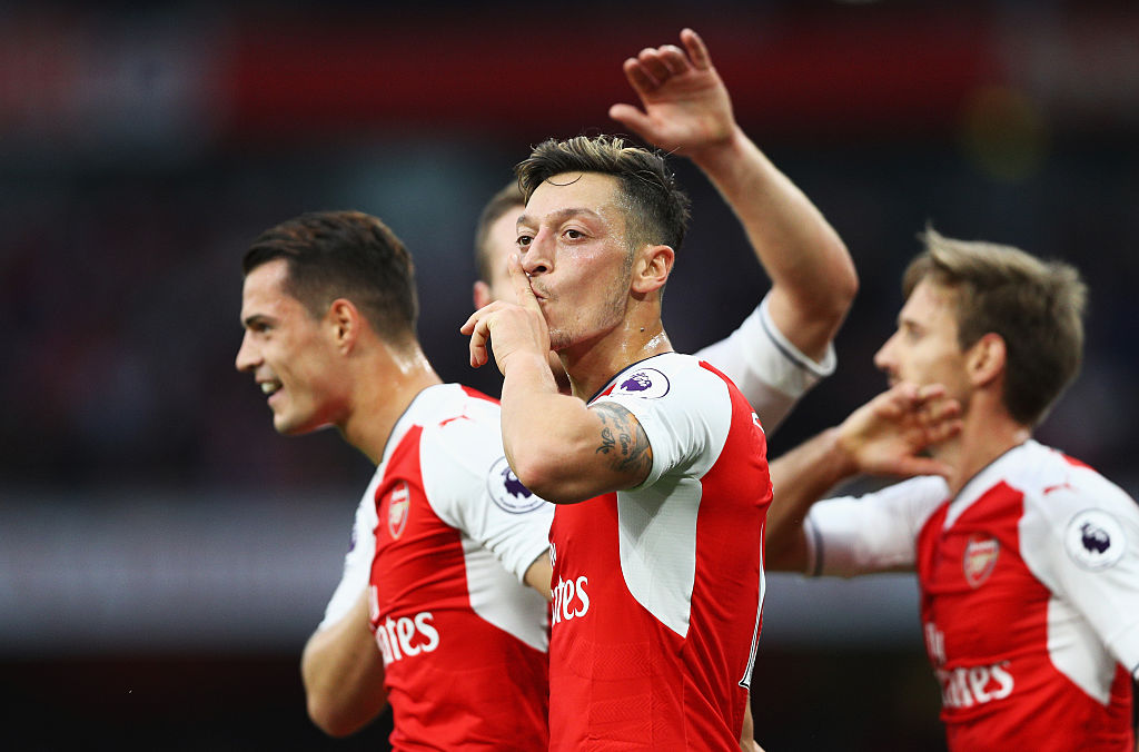
[(435, 514), (491, 551), (523, 581), (550, 547), (554, 505), (518, 482), (497, 420), (451, 420), (424, 430), (419, 461)]

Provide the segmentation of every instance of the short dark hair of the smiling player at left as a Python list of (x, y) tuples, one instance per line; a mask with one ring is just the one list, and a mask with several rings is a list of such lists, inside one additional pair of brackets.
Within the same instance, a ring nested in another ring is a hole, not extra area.
[(419, 302), (411, 254), (392, 230), (362, 212), (310, 212), (262, 232), (245, 252), (248, 275), (263, 263), (288, 264), (285, 292), (321, 317), (343, 297), (388, 342), (415, 338)]

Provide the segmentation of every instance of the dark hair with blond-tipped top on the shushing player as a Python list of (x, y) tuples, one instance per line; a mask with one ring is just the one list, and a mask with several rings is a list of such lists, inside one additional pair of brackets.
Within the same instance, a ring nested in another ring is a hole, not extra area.
[(615, 136), (551, 138), (535, 146), (515, 172), (527, 202), (542, 182), (563, 172), (614, 175), (624, 199), (630, 246), (659, 244), (678, 251), (685, 240), (690, 202), (657, 150), (625, 146)]

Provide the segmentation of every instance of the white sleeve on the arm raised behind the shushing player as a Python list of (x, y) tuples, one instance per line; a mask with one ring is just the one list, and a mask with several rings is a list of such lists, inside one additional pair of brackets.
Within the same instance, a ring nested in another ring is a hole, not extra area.
[(816, 362), (793, 345), (771, 320), (767, 296), (738, 329), (695, 355), (736, 384), (769, 434), (803, 394), (835, 373), (837, 362), (834, 344), (827, 345), (822, 362)]

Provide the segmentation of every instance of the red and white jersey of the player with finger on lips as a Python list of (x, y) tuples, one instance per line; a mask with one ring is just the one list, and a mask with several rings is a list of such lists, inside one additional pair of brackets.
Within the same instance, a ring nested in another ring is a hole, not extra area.
[(771, 501), (760, 422), (677, 353), (625, 369), (600, 402), (640, 422), (653, 467), (555, 512), (550, 749), (738, 751)]

